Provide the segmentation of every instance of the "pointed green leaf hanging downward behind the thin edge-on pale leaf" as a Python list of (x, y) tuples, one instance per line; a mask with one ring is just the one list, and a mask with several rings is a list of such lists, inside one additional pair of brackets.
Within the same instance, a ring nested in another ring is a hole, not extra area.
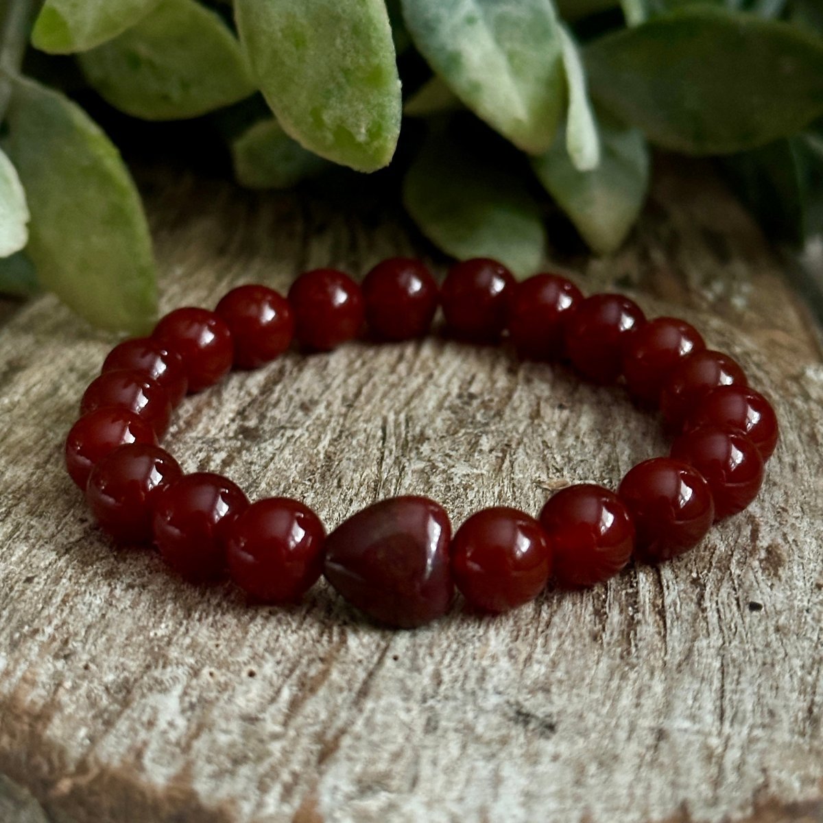
[(570, 217), (593, 251), (618, 249), (634, 226), (649, 187), (649, 151), (643, 135), (601, 118), (600, 165), (574, 168), (562, 135), (532, 165), (546, 190)]

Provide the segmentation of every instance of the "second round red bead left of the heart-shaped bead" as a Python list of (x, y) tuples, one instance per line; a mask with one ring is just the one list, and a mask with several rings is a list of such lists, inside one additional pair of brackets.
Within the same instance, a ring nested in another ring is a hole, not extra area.
[(226, 537), (248, 505), (227, 477), (211, 472), (180, 477), (155, 503), (152, 528), (160, 554), (185, 579), (220, 578), (226, 571)]

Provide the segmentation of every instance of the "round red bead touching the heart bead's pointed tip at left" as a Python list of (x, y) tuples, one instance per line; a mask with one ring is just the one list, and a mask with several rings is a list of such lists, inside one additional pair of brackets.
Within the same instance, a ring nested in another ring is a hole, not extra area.
[(323, 571), (325, 537), (318, 516), (297, 500), (258, 500), (228, 530), (229, 574), (260, 602), (299, 600)]

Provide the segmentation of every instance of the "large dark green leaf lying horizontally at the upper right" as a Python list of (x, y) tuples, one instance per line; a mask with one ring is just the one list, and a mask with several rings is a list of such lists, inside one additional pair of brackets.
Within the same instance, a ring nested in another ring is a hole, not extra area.
[(686, 154), (762, 146), (823, 111), (823, 43), (760, 17), (686, 8), (596, 40), (585, 58), (596, 100)]

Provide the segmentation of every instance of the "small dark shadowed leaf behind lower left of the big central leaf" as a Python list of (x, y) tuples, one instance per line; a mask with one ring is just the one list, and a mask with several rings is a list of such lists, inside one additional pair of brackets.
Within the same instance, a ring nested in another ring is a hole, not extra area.
[(254, 123), (231, 145), (237, 182), (247, 188), (290, 188), (328, 168), (289, 137), (275, 119)]

